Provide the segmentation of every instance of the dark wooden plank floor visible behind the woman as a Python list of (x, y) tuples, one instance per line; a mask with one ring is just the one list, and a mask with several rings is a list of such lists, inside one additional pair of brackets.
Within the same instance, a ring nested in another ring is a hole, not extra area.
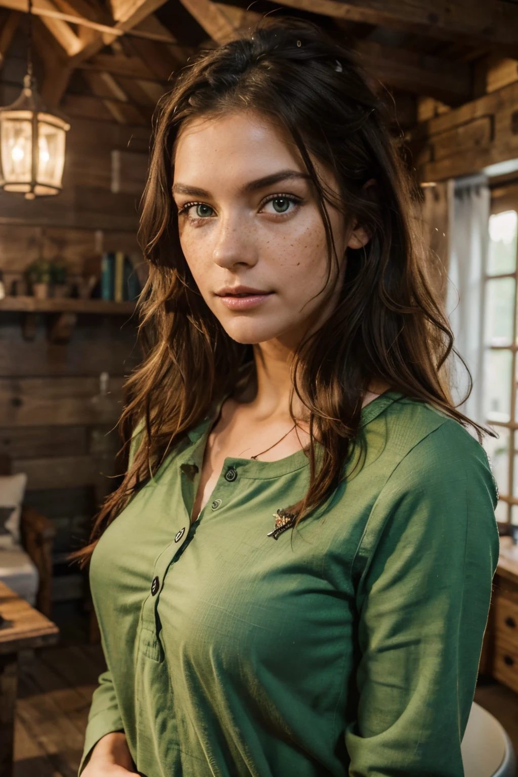
[[(61, 645), (20, 667), (14, 777), (76, 777), (92, 692), (105, 669), (100, 646), (87, 644), (87, 622), (78, 611), (66, 605), (54, 619)], [(475, 701), (502, 723), (518, 752), (518, 694), (481, 681)]]

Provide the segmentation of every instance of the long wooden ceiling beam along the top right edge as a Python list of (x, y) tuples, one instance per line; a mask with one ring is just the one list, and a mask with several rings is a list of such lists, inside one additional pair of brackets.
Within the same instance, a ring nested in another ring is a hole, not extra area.
[(282, 0), (282, 5), (444, 40), (463, 37), (474, 45), (518, 49), (518, 5), (504, 0)]

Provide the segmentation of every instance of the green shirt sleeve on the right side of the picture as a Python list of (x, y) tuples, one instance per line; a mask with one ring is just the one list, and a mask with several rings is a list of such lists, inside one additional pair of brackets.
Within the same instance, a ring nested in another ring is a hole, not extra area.
[(498, 562), (495, 483), (447, 421), (392, 472), (356, 554), (361, 658), (350, 777), (463, 777)]

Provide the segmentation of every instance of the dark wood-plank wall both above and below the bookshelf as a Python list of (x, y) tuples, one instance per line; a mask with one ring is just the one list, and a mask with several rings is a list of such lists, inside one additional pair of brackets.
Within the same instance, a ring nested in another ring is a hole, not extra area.
[[(7, 87), (3, 88), (5, 92)], [(12, 95), (3, 95), (9, 102)], [(112, 191), (112, 152), (144, 155), (149, 130), (107, 121), (71, 119), (63, 191), (33, 201), (0, 192), (0, 269), (9, 291), (37, 257), (63, 260), (71, 280), (85, 260), (122, 250), (145, 267), (137, 243), (138, 186)], [(141, 165), (142, 186), (144, 169)], [(136, 319), (78, 315), (68, 343), (52, 343), (50, 314), (40, 314), (34, 340), (23, 339), (23, 313), (0, 311), (0, 452), (14, 472), (28, 475), (27, 502), (57, 525), (55, 598), (82, 595), (82, 577), (64, 555), (89, 531), (110, 475), (124, 376), (137, 364)], [(99, 375), (110, 375), (110, 397), (99, 395)]]

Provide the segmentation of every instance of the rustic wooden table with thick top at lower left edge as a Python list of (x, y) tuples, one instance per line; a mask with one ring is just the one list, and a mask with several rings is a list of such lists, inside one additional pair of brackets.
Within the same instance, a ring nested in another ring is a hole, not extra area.
[(0, 582), (0, 775), (12, 775), (19, 650), (57, 643), (57, 625)]

